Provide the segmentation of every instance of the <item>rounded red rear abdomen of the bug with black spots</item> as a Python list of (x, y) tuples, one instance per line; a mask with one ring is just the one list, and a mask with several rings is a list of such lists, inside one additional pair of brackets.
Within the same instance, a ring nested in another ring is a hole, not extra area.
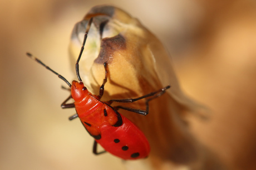
[(107, 152), (122, 159), (139, 159), (149, 155), (150, 145), (144, 133), (122, 117), (122, 126), (102, 126), (101, 139), (96, 140)]

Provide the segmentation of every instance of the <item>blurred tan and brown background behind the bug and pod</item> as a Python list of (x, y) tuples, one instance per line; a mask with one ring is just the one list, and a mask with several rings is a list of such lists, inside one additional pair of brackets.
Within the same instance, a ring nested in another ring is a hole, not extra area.
[(255, 1), (0, 1), (0, 169), (123, 169), (120, 159), (92, 154), (93, 140), (62, 81), (27, 58), (37, 55), (68, 80), (73, 25), (97, 4), (137, 17), (169, 49), (181, 87), (210, 107), (191, 131), (229, 169), (256, 169)]

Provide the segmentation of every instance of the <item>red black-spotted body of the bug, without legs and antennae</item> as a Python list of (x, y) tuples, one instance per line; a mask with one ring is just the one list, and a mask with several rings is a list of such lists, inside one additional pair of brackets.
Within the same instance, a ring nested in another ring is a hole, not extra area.
[(72, 82), (71, 95), (83, 126), (107, 152), (122, 159), (145, 158), (150, 146), (144, 133), (113, 107), (91, 95), (83, 83)]

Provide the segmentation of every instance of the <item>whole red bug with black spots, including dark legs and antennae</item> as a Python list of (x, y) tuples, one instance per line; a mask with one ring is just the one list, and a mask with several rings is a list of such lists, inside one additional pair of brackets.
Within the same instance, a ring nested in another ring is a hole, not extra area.
[[(134, 125), (134, 123), (128, 120), (125, 116), (122, 116), (117, 110), (124, 109), (140, 115), (147, 115), (149, 110), (149, 101), (163, 95), (165, 90), (169, 89), (170, 86), (166, 86), (160, 90), (134, 99), (112, 99), (110, 101), (101, 101), (101, 97), (104, 95), (104, 86), (109, 75), (109, 66), (107, 62), (105, 62), (105, 78), (100, 86), (99, 95), (92, 95), (82, 83), (78, 64), (92, 19), (93, 18), (91, 18), (87, 24), (80, 55), (76, 62), (76, 74), (78, 81), (73, 80), (72, 84), (70, 84), (62, 75), (56, 73), (56, 71), (49, 68), (32, 54), (27, 53), (27, 56), (43, 65), (52, 73), (56, 74), (58, 78), (65, 81), (65, 83), (70, 86), (71, 95), (63, 101), (61, 107), (63, 109), (75, 107), (76, 114), (70, 116), (69, 119), (73, 120), (76, 117), (79, 117), (87, 132), (95, 139), (93, 144), (93, 153), (101, 154), (107, 151), (122, 159), (145, 158), (150, 153), (150, 145), (147, 138), (144, 133)], [(135, 102), (144, 98), (147, 98), (146, 110), (133, 109), (124, 106), (111, 106), (112, 102)], [(67, 103), (70, 99), (73, 99), (75, 102)], [(98, 143), (105, 149), (105, 151), (97, 151)]]

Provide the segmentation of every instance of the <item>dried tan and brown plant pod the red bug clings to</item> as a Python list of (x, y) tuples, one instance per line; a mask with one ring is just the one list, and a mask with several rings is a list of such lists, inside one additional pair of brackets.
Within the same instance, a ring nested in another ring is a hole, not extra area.
[[(139, 126), (150, 142), (151, 154), (145, 162), (152, 169), (216, 166), (214, 159), (209, 158), (209, 152), (190, 135), (184, 121), (189, 114), (201, 115), (203, 107), (181, 92), (169, 53), (137, 19), (112, 6), (92, 8), (73, 29), (70, 44), (72, 66), (91, 17), (91, 28), (80, 60), (80, 75), (89, 91), (99, 93), (106, 61), (109, 79), (102, 100), (135, 98), (171, 85), (167, 94), (150, 101), (147, 116), (120, 110)], [(145, 101), (123, 106), (145, 110)]]

